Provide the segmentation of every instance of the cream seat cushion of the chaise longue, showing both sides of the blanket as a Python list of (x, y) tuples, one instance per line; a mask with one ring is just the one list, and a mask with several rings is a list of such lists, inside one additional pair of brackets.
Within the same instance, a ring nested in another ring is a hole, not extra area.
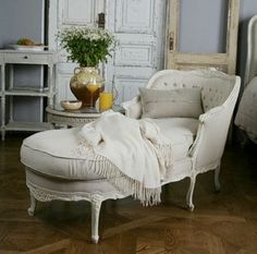
[[(197, 131), (198, 120), (187, 118), (155, 119), (172, 146), (172, 157), (186, 157)], [(85, 157), (76, 155), (79, 145), (78, 128), (51, 130), (36, 133), (24, 140), (21, 148), (22, 162), (42, 174), (71, 180), (102, 179), (86, 167)]]

